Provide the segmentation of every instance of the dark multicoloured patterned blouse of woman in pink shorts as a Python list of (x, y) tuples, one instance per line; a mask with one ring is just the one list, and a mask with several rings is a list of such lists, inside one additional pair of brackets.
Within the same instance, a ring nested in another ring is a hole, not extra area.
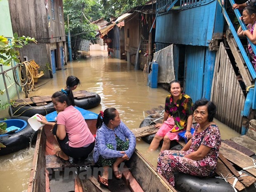
[(174, 103), (173, 96), (170, 94), (166, 97), (164, 110), (173, 116), (177, 128), (183, 129), (187, 126), (187, 117), (193, 114), (192, 105), (190, 96), (181, 93), (177, 102)]

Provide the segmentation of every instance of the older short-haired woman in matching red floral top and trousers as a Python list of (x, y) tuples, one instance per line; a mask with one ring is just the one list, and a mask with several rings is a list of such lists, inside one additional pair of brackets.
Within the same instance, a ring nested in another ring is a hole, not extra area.
[(157, 171), (173, 187), (173, 172), (207, 177), (217, 165), (221, 139), (218, 126), (213, 122), (216, 106), (202, 99), (195, 102), (193, 109), (197, 126), (192, 139), (181, 151), (164, 150), (158, 157)]

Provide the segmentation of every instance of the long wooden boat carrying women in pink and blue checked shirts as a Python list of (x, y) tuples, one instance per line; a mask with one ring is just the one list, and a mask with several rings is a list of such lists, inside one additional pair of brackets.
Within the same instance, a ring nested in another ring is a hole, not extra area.
[[(96, 119), (85, 119), (92, 134), (96, 134)], [(126, 171), (123, 171), (123, 180), (116, 178), (109, 179), (109, 188), (101, 187), (97, 182), (97, 169), (90, 158), (85, 161), (73, 162), (62, 161), (55, 156), (55, 152), (59, 150), (50, 126), (44, 126), (38, 130), (36, 148), (33, 157), (33, 165), (28, 184), (28, 192), (49, 192), (49, 191), (75, 191), (75, 192), (106, 192), (106, 191), (133, 191), (133, 192), (156, 192), (176, 190), (168, 184), (168, 182), (156, 172), (156, 169), (149, 164), (142, 155), (135, 150), (133, 156), (126, 162)], [(73, 168), (78, 175), (74, 178), (63, 180), (56, 179), (56, 175), (66, 174), (67, 169)], [(62, 171), (59, 171), (62, 170)], [(83, 170), (83, 171), (81, 171)], [(90, 170), (93, 170), (90, 173)], [(64, 172), (64, 173), (63, 173)], [(86, 173), (86, 177), (81, 174)], [(92, 176), (91, 176), (92, 175)], [(93, 176), (95, 175), (95, 176)], [(55, 178), (53, 178), (55, 177)], [(68, 183), (65, 185), (64, 183)], [(55, 188), (57, 186), (57, 188)], [(71, 187), (69, 189), (69, 187)]]

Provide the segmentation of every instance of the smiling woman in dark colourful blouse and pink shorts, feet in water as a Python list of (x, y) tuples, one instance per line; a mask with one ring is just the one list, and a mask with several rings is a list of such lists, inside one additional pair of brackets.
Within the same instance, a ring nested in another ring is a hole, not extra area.
[[(192, 137), (190, 133), (192, 125), (192, 99), (182, 93), (180, 81), (171, 81), (169, 85), (170, 95), (165, 101), (165, 112), (163, 123), (157, 123), (155, 128), (159, 128), (152, 140), (149, 150), (156, 150), (161, 140), (164, 139), (161, 151), (170, 149), (172, 140), (179, 140), (178, 133), (186, 130), (187, 139)], [(186, 128), (186, 129), (185, 129)]]

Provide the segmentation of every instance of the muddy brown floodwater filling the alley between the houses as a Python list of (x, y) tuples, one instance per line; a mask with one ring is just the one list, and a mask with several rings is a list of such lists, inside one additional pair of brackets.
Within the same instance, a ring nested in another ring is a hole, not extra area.
[[(81, 86), (77, 90), (96, 92), (101, 97), (101, 104), (95, 113), (108, 107), (115, 107), (122, 121), (128, 128), (138, 128), (144, 119), (143, 111), (164, 105), (168, 92), (162, 88), (147, 86), (147, 76), (142, 71), (135, 71), (126, 61), (107, 58), (106, 51), (97, 50), (88, 59), (68, 63), (64, 70), (57, 71), (52, 79), (39, 79), (29, 96), (52, 95), (65, 87), (67, 76), (77, 76)], [(102, 57), (98, 57), (101, 55)], [(147, 115), (147, 114), (145, 114)], [(222, 123), (218, 123), (222, 139), (236, 137), (239, 134)], [(156, 166), (159, 150), (147, 152), (149, 144), (138, 139), (137, 149), (146, 159)], [(33, 149), (25, 149), (14, 154), (0, 157), (0, 192), (25, 192), (33, 161)]]

